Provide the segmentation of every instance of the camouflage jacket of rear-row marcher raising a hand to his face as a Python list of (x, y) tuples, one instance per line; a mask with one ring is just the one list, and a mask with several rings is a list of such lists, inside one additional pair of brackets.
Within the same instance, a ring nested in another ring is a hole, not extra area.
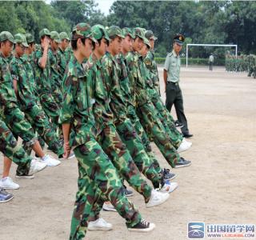
[(37, 85), (38, 94), (51, 94), (52, 88), (50, 83), (50, 61), (49, 61), (49, 50), (46, 67), (42, 69), (39, 66), (40, 58), (42, 58), (43, 49), (40, 48), (34, 53), (34, 71), (35, 71), (35, 82)]

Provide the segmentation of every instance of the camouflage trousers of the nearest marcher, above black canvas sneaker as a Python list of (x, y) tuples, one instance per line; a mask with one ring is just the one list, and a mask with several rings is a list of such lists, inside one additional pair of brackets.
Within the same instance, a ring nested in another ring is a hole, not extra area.
[(136, 225), (142, 216), (126, 198), (117, 170), (95, 138), (87, 138), (87, 142), (74, 149), (74, 154), (78, 159), (79, 176), (70, 240), (85, 237), (90, 212), (100, 198), (110, 199), (118, 214), (126, 219), (126, 226)]

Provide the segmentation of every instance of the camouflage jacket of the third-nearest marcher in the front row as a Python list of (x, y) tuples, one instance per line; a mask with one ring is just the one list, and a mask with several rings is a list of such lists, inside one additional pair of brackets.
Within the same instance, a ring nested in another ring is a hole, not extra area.
[(114, 122), (126, 119), (126, 100), (122, 96), (122, 90), (119, 83), (118, 64), (109, 52), (106, 52), (102, 57), (101, 63), (102, 75), (106, 82), (106, 90), (110, 97), (110, 108), (114, 114)]

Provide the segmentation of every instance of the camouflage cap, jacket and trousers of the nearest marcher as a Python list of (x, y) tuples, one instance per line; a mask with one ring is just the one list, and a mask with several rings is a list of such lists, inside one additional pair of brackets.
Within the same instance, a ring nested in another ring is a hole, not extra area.
[[(90, 26), (80, 23), (73, 33), (73, 39), (88, 38)], [(61, 123), (71, 124), (70, 145), (74, 147), (79, 170), (70, 239), (84, 238), (87, 219), (97, 200), (98, 190), (126, 218), (127, 226), (134, 226), (141, 220), (138, 210), (135, 210), (122, 191), (122, 182), (116, 169), (95, 139), (97, 129), (86, 86), (90, 80), (87, 76), (82, 65), (72, 56), (64, 78), (64, 101), (60, 117)]]

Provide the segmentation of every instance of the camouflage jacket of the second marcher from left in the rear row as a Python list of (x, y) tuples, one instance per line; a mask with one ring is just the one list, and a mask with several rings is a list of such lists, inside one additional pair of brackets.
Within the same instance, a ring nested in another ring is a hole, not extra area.
[(33, 88), (30, 84), (30, 76), (26, 72), (26, 66), (21, 58), (12, 58), (10, 61), (10, 74), (17, 81), (18, 87), (18, 102), (22, 110), (32, 108), (37, 100), (34, 97)]

